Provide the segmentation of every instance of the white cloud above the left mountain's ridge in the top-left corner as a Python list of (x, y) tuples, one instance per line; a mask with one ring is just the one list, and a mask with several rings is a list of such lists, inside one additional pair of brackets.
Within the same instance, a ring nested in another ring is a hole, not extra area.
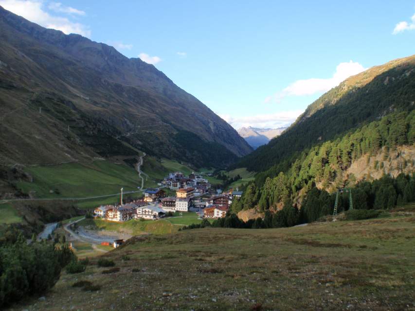
[[(0, 5), (40, 26), (60, 30), (65, 34), (79, 34), (90, 37), (89, 27), (70, 21), (66, 17), (52, 16), (43, 10), (39, 0), (0, 0)], [(80, 11), (81, 12), (81, 11)]]

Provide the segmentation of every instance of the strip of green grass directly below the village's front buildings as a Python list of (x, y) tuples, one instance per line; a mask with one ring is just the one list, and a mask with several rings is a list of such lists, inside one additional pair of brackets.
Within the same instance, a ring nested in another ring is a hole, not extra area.
[(84, 219), (78, 224), (92, 230), (126, 232), (131, 235), (145, 233), (167, 234), (177, 232), (180, 228), (180, 226), (173, 225), (164, 219), (156, 221), (132, 219), (124, 223), (109, 222), (103, 219)]

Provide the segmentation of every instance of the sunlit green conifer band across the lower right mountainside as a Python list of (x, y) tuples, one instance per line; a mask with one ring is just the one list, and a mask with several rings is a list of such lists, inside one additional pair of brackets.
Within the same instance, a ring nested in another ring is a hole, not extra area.
[[(253, 207), (265, 211), (289, 199), (295, 200), (299, 191), (307, 193), (316, 184), (322, 189), (343, 188), (345, 171), (353, 161), (363, 155), (376, 155), (381, 150), (388, 155), (387, 151), (395, 150), (397, 146), (414, 143), (415, 111), (392, 113), (380, 121), (371, 122), (346, 134), (343, 138), (326, 141), (303, 151), (286, 172), (276, 173), (270, 170), (257, 174), (255, 181), (246, 187), (242, 198), (236, 200), (231, 209), (234, 213)], [(395, 156), (399, 157), (399, 154)], [(415, 159), (409, 162), (402, 160), (399, 163), (400, 167), (397, 169), (403, 170), (408, 165), (414, 167)], [(375, 166), (376, 170), (384, 170), (383, 162), (375, 162)], [(355, 183), (352, 174), (347, 176), (347, 182), (347, 186)]]

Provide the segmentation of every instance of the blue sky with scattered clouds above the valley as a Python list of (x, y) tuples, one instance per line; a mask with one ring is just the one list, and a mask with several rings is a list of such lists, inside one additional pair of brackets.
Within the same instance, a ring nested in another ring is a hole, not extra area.
[(287, 126), (350, 75), (415, 54), (415, 0), (0, 0), (162, 70), (235, 129)]

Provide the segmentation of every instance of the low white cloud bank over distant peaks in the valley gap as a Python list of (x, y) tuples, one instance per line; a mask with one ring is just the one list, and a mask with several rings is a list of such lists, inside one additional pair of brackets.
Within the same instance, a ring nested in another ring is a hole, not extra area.
[(247, 117), (234, 117), (230, 115), (219, 116), (231, 124), (235, 129), (247, 126), (277, 128), (281, 126), (288, 126), (294, 122), (297, 117), (303, 112), (303, 110), (289, 110), (271, 114), (258, 114)]

